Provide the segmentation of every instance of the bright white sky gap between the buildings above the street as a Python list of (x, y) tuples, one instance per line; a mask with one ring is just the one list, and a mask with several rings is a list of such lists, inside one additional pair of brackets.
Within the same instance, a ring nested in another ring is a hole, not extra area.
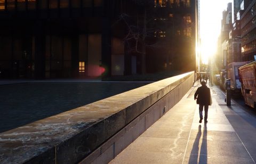
[(201, 51), (204, 62), (208, 56), (216, 52), (217, 40), (221, 31), (222, 11), (227, 10), (227, 4), (232, 0), (200, 0), (201, 18)]

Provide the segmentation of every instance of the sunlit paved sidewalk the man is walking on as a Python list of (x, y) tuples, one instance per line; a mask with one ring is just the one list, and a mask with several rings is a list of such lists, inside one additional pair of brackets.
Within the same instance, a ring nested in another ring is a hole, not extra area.
[(212, 86), (208, 123), (199, 124), (194, 93), (183, 99), (110, 163), (255, 163), (256, 118)]

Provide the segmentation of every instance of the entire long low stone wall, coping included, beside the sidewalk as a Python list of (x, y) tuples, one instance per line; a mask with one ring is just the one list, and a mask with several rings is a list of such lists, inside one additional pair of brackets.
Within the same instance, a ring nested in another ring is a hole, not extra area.
[(107, 163), (188, 92), (167, 78), (0, 134), (0, 163)]

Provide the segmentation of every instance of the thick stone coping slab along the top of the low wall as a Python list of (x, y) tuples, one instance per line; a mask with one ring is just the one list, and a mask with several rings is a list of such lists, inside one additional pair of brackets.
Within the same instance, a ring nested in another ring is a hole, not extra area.
[(167, 78), (0, 134), (0, 163), (77, 163), (194, 72)]

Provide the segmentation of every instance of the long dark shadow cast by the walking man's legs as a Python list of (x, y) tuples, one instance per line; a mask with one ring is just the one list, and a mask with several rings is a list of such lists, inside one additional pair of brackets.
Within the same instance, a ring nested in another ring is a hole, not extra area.
[[(202, 144), (199, 152), (199, 142), (202, 136), (201, 128), (202, 126), (199, 125), (198, 132), (193, 144), (193, 148), (190, 152), (190, 157), (188, 161), (188, 163), (190, 164), (207, 163), (207, 124), (204, 124)], [(199, 157), (199, 160), (198, 160), (198, 157)]]

